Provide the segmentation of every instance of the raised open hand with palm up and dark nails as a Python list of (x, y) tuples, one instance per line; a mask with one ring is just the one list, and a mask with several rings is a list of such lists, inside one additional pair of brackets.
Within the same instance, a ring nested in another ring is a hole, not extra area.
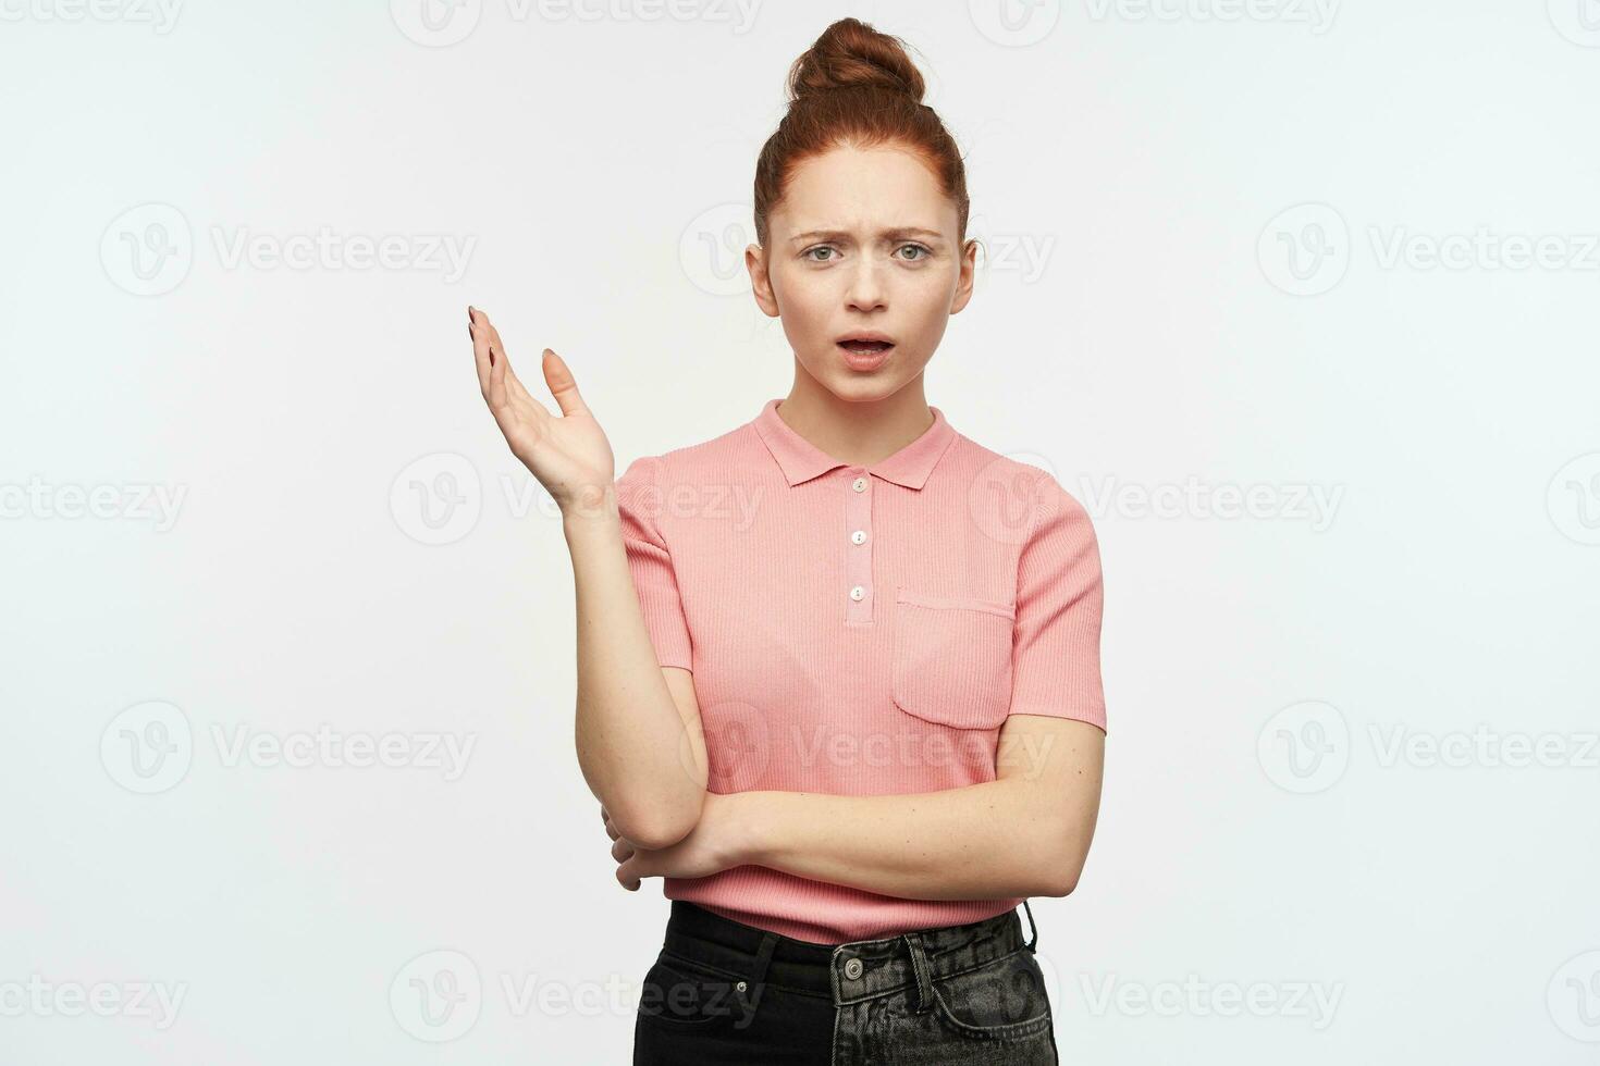
[(557, 417), (517, 379), (488, 315), (467, 307), (467, 331), (472, 334), (472, 358), (483, 400), (512, 454), (563, 513), (568, 508), (597, 508), (616, 478), (616, 459), (605, 432), (578, 393), (571, 369), (555, 352), (544, 350), (541, 369), (562, 409)]

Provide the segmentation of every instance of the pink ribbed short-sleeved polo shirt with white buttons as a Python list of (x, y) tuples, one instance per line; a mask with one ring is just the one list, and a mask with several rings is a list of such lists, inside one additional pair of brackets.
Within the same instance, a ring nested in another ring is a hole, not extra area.
[[(870, 467), (778, 400), (634, 460), (618, 508), (656, 658), (694, 673), (714, 793), (878, 796), (995, 778), (1008, 714), (1106, 729), (1088, 513), (934, 422)], [(974, 922), (1014, 900), (902, 900), (768, 869), (664, 877), (669, 900), (816, 943)]]

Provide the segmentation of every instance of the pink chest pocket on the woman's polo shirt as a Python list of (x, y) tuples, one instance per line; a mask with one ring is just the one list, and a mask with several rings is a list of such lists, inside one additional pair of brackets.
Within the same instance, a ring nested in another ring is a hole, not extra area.
[(994, 729), (1011, 708), (1013, 604), (894, 590), (894, 705), (955, 729)]

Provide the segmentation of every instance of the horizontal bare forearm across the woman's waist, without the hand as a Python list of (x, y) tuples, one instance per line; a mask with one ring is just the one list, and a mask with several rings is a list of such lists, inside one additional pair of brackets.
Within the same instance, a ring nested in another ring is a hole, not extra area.
[(742, 861), (909, 900), (1066, 895), (1083, 852), (1037, 783), (995, 780), (904, 796), (750, 791)]

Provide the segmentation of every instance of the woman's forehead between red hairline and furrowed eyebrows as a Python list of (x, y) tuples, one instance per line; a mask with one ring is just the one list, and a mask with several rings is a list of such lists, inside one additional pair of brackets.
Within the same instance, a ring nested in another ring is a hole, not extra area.
[(920, 225), (955, 232), (957, 213), (928, 166), (899, 147), (834, 147), (789, 174), (773, 229), (875, 230)]

